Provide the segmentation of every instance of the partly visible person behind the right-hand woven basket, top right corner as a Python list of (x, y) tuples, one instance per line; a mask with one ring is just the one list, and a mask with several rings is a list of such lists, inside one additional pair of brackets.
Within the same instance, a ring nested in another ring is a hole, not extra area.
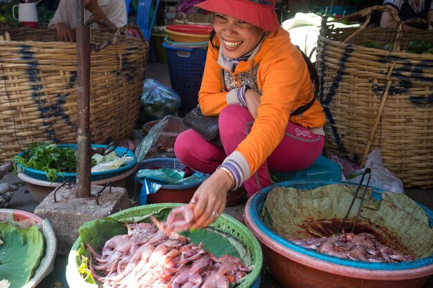
[[(421, 18), (426, 19), (430, 22), (430, 25), (424, 25), (422, 23), (409, 23), (405, 25), (406, 28), (427, 28), (433, 29), (433, 1), (432, 0), (385, 0), (383, 5), (387, 6), (394, 12), (401, 21), (407, 19)], [(391, 15), (387, 12), (382, 13), (380, 17), (380, 27), (382, 28), (396, 28), (397, 22), (392, 19)]]

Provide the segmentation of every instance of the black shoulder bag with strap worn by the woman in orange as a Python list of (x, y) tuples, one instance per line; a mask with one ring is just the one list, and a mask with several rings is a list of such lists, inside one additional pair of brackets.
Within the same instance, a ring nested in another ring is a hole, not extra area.
[[(297, 47), (300, 50), (299, 47)], [(310, 108), (315, 99), (317, 99), (317, 93), (319, 91), (319, 75), (317, 74), (317, 70), (315, 70), (314, 64), (311, 63), (310, 59), (305, 55), (302, 50), (300, 50), (302, 57), (306, 61), (306, 66), (308, 67), (308, 71), (310, 73), (311, 81), (314, 84), (314, 97), (307, 104), (298, 107), (295, 111), (291, 113), (291, 116), (300, 115)], [(221, 140), (219, 140), (219, 127), (218, 127), (218, 117), (208, 117), (201, 113), (200, 106), (196, 106), (192, 109), (185, 117), (183, 117), (183, 124), (185, 126), (192, 128), (194, 131), (199, 133), (201, 137), (209, 142), (215, 144), (219, 148), (222, 148)]]

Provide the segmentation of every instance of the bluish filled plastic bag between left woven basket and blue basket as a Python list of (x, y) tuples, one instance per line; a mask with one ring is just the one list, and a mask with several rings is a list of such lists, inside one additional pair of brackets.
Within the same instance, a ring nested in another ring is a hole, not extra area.
[(177, 115), (181, 102), (181, 97), (171, 88), (154, 79), (145, 79), (140, 101), (140, 122)]

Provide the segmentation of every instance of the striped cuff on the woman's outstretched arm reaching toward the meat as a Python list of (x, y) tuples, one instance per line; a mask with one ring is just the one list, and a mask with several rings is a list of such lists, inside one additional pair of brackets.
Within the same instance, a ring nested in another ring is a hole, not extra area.
[(232, 190), (238, 189), (250, 177), (250, 165), (239, 152), (234, 151), (219, 167), (224, 167), (233, 176)]

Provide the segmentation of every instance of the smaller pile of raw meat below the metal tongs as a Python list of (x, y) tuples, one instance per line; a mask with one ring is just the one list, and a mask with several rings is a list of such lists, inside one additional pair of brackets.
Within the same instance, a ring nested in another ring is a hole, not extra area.
[(313, 249), (338, 258), (365, 262), (403, 262), (413, 261), (414, 256), (403, 255), (381, 244), (370, 233), (342, 233), (329, 238), (310, 238), (293, 240), (295, 244)]

